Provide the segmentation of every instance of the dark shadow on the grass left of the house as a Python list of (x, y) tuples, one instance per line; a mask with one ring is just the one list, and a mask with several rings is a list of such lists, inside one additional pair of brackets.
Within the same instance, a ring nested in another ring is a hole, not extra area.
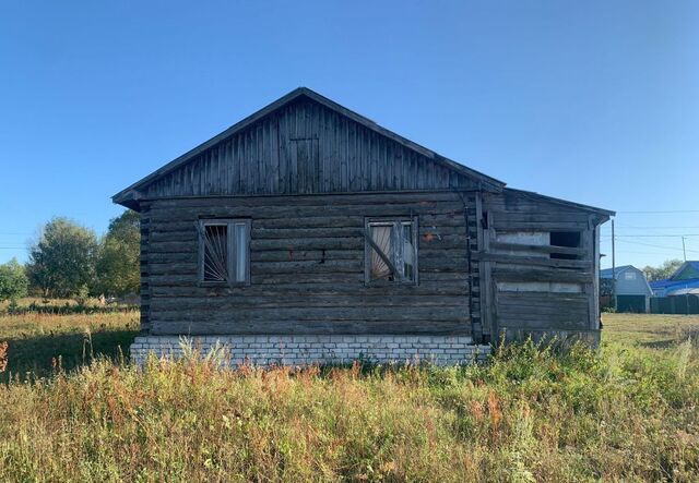
[[(119, 361), (129, 357), (129, 346), (138, 330), (95, 330), (90, 337), (75, 331), (45, 334), (8, 339), (8, 369), (0, 374), (0, 383), (10, 377), (26, 379), (45, 377), (56, 372), (56, 364), (70, 371), (90, 364), (93, 358), (105, 357)], [(27, 373), (31, 373), (28, 375)]]

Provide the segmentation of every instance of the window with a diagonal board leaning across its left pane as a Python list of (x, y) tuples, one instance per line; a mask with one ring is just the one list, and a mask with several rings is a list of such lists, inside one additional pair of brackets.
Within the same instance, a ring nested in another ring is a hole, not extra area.
[(416, 220), (369, 220), (365, 237), (367, 282), (417, 282)]

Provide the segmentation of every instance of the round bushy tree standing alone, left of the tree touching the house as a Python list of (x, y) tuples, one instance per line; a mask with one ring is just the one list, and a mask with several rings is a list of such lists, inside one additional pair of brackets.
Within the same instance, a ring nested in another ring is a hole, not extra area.
[(97, 237), (68, 218), (54, 218), (29, 249), (27, 275), (45, 297), (72, 297), (94, 283)]

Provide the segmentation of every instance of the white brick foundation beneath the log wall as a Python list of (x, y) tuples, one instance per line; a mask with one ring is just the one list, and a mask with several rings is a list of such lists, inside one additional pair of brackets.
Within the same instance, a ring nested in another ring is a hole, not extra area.
[[(489, 346), (474, 346), (471, 337), (464, 336), (202, 336), (189, 340), (202, 354), (217, 342), (232, 365), (336, 364), (355, 360), (452, 365), (482, 362), (490, 353)], [(140, 365), (149, 352), (178, 358), (182, 355), (181, 342), (178, 336), (139, 336), (131, 345), (131, 359)]]

